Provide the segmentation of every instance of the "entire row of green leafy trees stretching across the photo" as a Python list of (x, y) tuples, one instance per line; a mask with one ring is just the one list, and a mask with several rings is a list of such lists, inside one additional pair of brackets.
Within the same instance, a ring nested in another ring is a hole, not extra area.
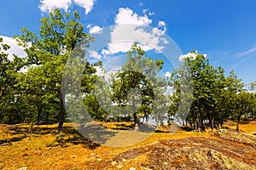
[[(40, 20), (38, 32), (21, 28), (21, 35), (15, 36), (15, 40), (25, 48), (25, 58), (10, 57), (9, 45), (0, 38), (1, 123), (58, 122), (61, 133), (63, 122), (68, 121), (65, 87), (61, 84), (67, 60), (73, 57), (79, 43), (83, 42), (86, 51), (90, 42), (100, 41), (85, 33), (79, 20), (77, 11), (66, 14), (55, 9)], [(102, 61), (93, 64), (84, 61), (79, 94), (84, 96), (86, 110), (97, 121), (108, 121), (110, 114), (127, 113), (135, 127), (140, 117), (148, 119), (149, 115), (161, 125), (168, 113), (169, 118), (174, 116), (184, 126), (201, 131), (206, 127), (222, 127), (229, 118), (237, 122), (238, 131), (242, 118), (255, 119), (252, 90), (256, 83), (252, 82), (248, 91), (234, 71), (226, 77), (224, 68), (211, 65), (205, 55), (195, 51), (190, 54), (193, 56), (184, 58), (179, 68), (174, 71), (170, 68), (172, 75), (167, 82), (157, 77), (164, 60), (148, 57), (134, 42), (121, 70), (113, 75), (109, 87), (100, 91), (95, 90), (96, 67), (102, 67)], [(170, 87), (172, 94), (165, 94), (164, 90)], [(105, 103), (101, 103), (98, 96), (105, 96), (108, 91), (109, 99), (102, 98)], [(117, 106), (107, 106), (109, 112), (102, 108), (103, 104)]]

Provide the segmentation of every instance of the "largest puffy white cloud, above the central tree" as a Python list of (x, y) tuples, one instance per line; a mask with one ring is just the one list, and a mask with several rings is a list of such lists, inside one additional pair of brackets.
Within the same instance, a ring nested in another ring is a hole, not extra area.
[(149, 26), (152, 20), (147, 14), (139, 16), (130, 8), (119, 8), (115, 17), (115, 26), (111, 31), (111, 42), (108, 49), (102, 50), (102, 54), (116, 54), (127, 52), (131, 49), (133, 42), (139, 42), (143, 50), (155, 49), (160, 52), (164, 47), (160, 43), (167, 43), (163, 36), (166, 32), (166, 24), (160, 21), (157, 27), (152, 30), (145, 30), (143, 26)]

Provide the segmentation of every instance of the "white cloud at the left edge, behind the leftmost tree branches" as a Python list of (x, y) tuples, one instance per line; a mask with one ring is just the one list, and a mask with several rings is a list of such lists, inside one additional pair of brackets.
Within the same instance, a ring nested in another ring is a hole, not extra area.
[(7, 50), (7, 54), (9, 54), (9, 59), (14, 59), (13, 54), (17, 55), (20, 58), (26, 57), (26, 52), (24, 51), (24, 48), (20, 47), (15, 39), (11, 37), (4, 37), (0, 36), (3, 38), (3, 43), (8, 44), (10, 48)]

